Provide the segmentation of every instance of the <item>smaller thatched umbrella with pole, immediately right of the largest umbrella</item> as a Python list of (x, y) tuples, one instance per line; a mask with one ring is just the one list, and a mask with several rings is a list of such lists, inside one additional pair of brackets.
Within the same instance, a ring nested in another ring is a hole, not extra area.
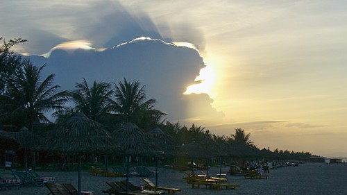
[(112, 137), (115, 137), (117, 143), (121, 145), (122, 152), (126, 155), (126, 192), (128, 192), (130, 155), (151, 151), (151, 144), (147, 142), (144, 131), (130, 122), (124, 123), (114, 130)]

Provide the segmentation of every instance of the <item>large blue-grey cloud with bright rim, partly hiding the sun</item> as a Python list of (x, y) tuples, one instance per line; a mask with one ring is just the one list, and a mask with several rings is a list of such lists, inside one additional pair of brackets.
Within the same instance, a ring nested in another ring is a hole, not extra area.
[(63, 90), (74, 89), (83, 78), (89, 83), (139, 80), (146, 85), (147, 97), (158, 100), (156, 108), (166, 112), (169, 120), (221, 116), (208, 94), (183, 95), (205, 67), (198, 51), (184, 46), (135, 40), (105, 51), (56, 49), (49, 58), (31, 56), (31, 60), (35, 65), (46, 63), (45, 74), (56, 74), (56, 84)]

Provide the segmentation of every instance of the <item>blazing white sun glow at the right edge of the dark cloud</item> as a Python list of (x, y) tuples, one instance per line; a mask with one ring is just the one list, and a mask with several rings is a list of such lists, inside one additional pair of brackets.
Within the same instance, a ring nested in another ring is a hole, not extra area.
[(195, 78), (198, 84), (190, 85), (184, 94), (209, 94), (212, 95), (212, 86), (214, 84), (215, 74), (213, 67), (207, 65), (200, 70), (200, 75)]

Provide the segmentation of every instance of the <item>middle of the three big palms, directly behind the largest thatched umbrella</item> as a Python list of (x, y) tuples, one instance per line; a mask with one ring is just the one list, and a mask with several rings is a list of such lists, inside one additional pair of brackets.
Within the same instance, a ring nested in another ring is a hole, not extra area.
[[(101, 122), (110, 113), (113, 102), (113, 90), (110, 87), (110, 83), (96, 81), (89, 87), (83, 78), (83, 82), (76, 83), (76, 90), (70, 93), (72, 101), (76, 104), (75, 111), (83, 112), (88, 118)], [(71, 109), (68, 111), (71, 112)]]

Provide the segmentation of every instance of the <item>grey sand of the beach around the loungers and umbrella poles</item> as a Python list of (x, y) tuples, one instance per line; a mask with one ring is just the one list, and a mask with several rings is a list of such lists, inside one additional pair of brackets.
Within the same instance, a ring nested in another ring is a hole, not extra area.
[[(153, 169), (154, 167), (149, 167)], [(226, 173), (228, 167), (223, 167), (222, 172)], [(72, 183), (77, 187), (76, 172), (38, 172), (42, 176), (53, 176), (56, 183)], [(219, 173), (219, 167), (212, 167), (210, 175)], [(1, 170), (4, 177), (9, 174)], [(271, 169), (268, 179), (246, 180), (243, 176), (230, 176), (226, 183), (238, 184), (237, 189), (192, 189), (183, 180), (185, 173), (174, 169), (159, 169), (158, 185), (162, 187), (176, 187), (182, 189), (176, 192), (178, 195), (202, 195), (202, 194), (347, 194), (347, 164), (323, 164), (306, 163), (299, 164), (298, 167), (282, 167)], [(8, 175), (9, 176), (9, 175)], [(94, 191), (95, 194), (104, 194), (103, 189), (109, 189), (106, 185), (108, 180), (125, 180), (125, 178), (106, 178), (103, 176), (92, 176), (87, 171), (82, 173), (82, 189)], [(150, 178), (155, 183), (155, 178)], [(141, 178), (132, 177), (130, 182), (134, 185), (144, 185)], [(11, 190), (0, 190), (1, 195), (41, 195), (49, 194), (46, 187), (20, 187)]]

